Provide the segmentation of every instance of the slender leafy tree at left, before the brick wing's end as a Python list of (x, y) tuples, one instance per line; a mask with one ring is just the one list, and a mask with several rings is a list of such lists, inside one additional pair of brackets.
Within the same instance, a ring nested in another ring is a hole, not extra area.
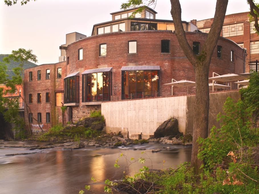
[[(17, 89), (17, 86), (21, 86), (23, 89), (23, 95), (21, 98), (24, 101), (24, 106), (26, 108), (27, 117), (28, 117), (28, 133), (31, 135), (30, 130), (30, 123), (29, 123), (29, 111), (31, 113), (30, 107), (28, 106), (26, 102), (26, 96), (24, 95), (24, 80), (23, 80), (23, 71), (25, 64), (28, 64), (29, 62), (36, 63), (38, 60), (36, 59), (36, 55), (32, 54), (32, 50), (25, 50), (25, 49), (18, 49), (15, 51), (12, 51), (12, 54), (10, 54), (8, 57), (3, 58), (3, 61), (7, 64), (9, 64), (11, 61), (18, 62), (19, 67), (13, 68), (13, 72), (15, 73), (15, 76), (13, 76), (12, 80), (9, 80), (6, 84), (6, 86), (10, 87), (11, 89)], [(29, 109), (29, 110), (28, 110)], [(34, 120), (37, 121), (34, 117), (32, 117)], [(40, 123), (38, 122), (38, 125), (40, 127)], [(43, 132), (42, 128), (40, 127), (41, 131)]]

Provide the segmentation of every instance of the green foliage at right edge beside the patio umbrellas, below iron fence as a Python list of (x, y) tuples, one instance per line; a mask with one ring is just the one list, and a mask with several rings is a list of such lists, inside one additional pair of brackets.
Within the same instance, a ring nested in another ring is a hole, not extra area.
[(249, 85), (247, 88), (240, 89), (240, 93), (244, 98), (244, 103), (253, 113), (259, 111), (259, 74), (251, 71)]

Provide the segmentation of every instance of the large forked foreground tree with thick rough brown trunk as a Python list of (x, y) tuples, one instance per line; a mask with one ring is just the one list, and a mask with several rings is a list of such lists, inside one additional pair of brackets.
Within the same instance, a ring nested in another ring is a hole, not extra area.
[[(211, 24), (211, 30), (203, 44), (200, 55), (195, 55), (193, 49), (188, 44), (185, 31), (181, 20), (181, 5), (179, 0), (171, 1), (171, 15), (174, 20), (176, 38), (183, 49), (184, 54), (191, 62), (196, 83), (195, 108), (193, 118), (193, 148), (191, 154), (191, 166), (194, 167), (195, 173), (200, 173), (202, 160), (197, 158), (199, 144), (196, 143), (198, 137), (205, 139), (208, 137), (208, 118), (209, 118), (209, 65), (214, 48), (218, 42), (221, 28), (223, 26), (228, 0), (217, 0), (214, 20)], [(121, 5), (121, 9), (128, 9), (143, 5), (147, 1), (129, 0)], [(156, 0), (148, 1), (148, 5), (155, 4)], [(140, 7), (137, 11), (141, 11)]]

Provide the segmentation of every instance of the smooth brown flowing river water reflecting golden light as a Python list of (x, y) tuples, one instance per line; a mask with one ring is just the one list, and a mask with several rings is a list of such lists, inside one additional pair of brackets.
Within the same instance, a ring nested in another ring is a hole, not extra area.
[[(4, 142), (5, 145), (44, 145), (44, 142)], [(162, 147), (170, 147), (165, 149)], [(161, 152), (152, 153), (152, 149), (162, 149)], [(146, 150), (133, 150), (146, 149)], [(146, 154), (141, 154), (145, 151)], [(142, 166), (150, 169), (176, 167), (183, 162), (191, 161), (191, 148), (181, 145), (149, 143), (132, 145), (126, 148), (95, 148), (86, 146), (78, 150), (62, 150), (55, 147), (43, 150), (41, 153), (5, 156), (5, 154), (38, 152), (29, 148), (3, 148), (0, 147), (0, 193), (78, 193), (80, 188), (90, 183), (91, 177), (105, 180), (120, 180), (127, 163), (125, 158), (119, 157), (121, 152), (130, 160), (133, 158), (146, 158), (144, 164), (135, 162), (130, 165), (129, 172), (133, 176)], [(119, 157), (117, 169), (113, 165)], [(150, 159), (148, 159), (150, 158)], [(165, 163), (163, 161), (166, 161)], [(131, 162), (134, 160), (130, 160)], [(152, 162), (151, 162), (152, 161)], [(165, 164), (163, 166), (163, 163)], [(128, 162), (129, 164), (129, 162)], [(153, 166), (152, 166), (153, 165)], [(91, 190), (103, 192), (103, 182), (91, 185)], [(73, 189), (75, 188), (75, 189)]]

